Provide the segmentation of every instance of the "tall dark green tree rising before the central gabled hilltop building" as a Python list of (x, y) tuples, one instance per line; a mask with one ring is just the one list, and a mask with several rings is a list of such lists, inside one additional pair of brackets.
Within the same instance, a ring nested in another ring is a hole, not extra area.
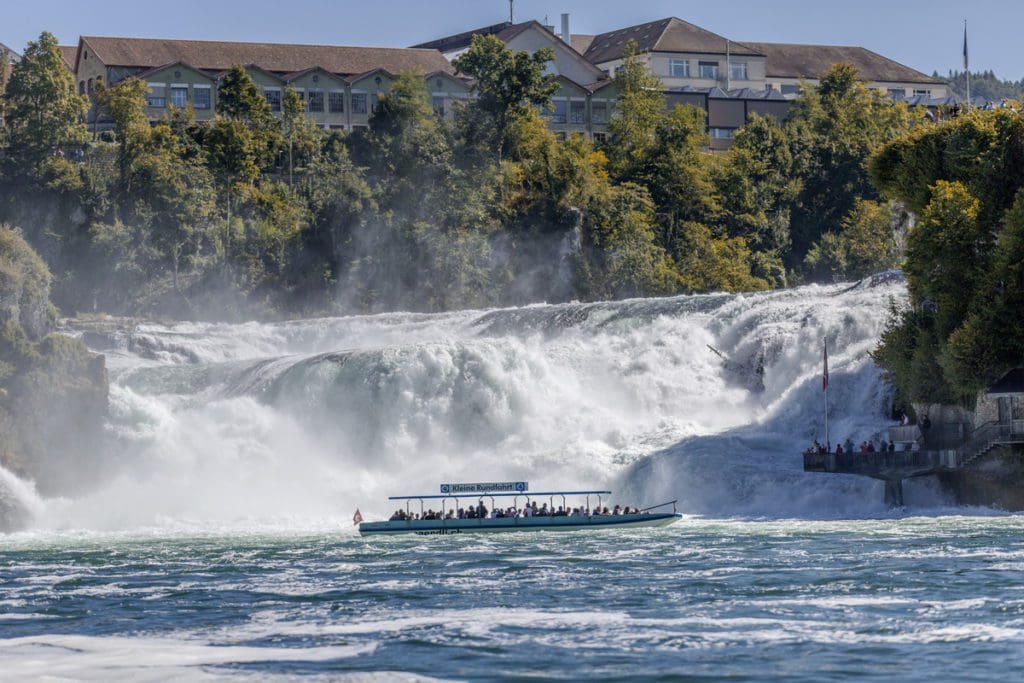
[(481, 145), (498, 158), (507, 153), (513, 123), (530, 109), (550, 105), (558, 84), (546, 70), (554, 58), (551, 48), (513, 52), (497, 36), (473, 36), (469, 49), (452, 62), (474, 80), (476, 99), (459, 114), (471, 146)]

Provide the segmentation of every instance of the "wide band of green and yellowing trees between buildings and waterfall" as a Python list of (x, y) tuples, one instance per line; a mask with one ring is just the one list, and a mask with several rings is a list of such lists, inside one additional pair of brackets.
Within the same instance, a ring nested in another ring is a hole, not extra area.
[(546, 126), (552, 58), (476, 38), (457, 62), (477, 98), (439, 118), (404, 74), (371, 128), (271, 115), (246, 72), (216, 118), (146, 120), (145, 85), (101, 89), (90, 136), (49, 34), (4, 88), (0, 219), (54, 273), (67, 313), (282, 317), (396, 308), (745, 291), (854, 279), (899, 259), (901, 212), (867, 159), (920, 113), (836, 67), (782, 124), (724, 155), (703, 113), (667, 109), (630, 56), (610, 139)]

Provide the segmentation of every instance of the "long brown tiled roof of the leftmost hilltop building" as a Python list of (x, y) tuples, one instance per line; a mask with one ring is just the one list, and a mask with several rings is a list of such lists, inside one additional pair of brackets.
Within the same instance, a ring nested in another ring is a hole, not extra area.
[(204, 71), (220, 72), (234, 65), (255, 65), (276, 74), (292, 74), (310, 67), (321, 67), (332, 74), (345, 76), (364, 74), (378, 68), (392, 74), (415, 68), (424, 72), (452, 71), (444, 55), (437, 50), (428, 49), (96, 36), (83, 36), (82, 42), (108, 67), (152, 69), (184, 61)]

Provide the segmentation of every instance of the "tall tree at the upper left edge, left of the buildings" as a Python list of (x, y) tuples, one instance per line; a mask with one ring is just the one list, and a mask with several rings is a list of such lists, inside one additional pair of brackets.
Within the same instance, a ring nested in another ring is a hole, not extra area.
[(85, 99), (76, 92), (52, 34), (43, 32), (29, 43), (11, 71), (4, 100), (11, 166), (41, 177), (45, 162), (88, 139)]

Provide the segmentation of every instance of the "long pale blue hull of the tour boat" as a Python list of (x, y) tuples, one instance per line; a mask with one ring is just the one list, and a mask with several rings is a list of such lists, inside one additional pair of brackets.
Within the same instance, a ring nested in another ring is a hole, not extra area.
[(637, 528), (667, 526), (681, 519), (675, 512), (638, 515), (596, 515), (593, 517), (502, 517), (497, 519), (425, 519), (417, 521), (361, 522), (362, 536), (416, 533), (447, 536), (450, 533), (500, 533), (504, 531), (581, 531), (604, 528)]

